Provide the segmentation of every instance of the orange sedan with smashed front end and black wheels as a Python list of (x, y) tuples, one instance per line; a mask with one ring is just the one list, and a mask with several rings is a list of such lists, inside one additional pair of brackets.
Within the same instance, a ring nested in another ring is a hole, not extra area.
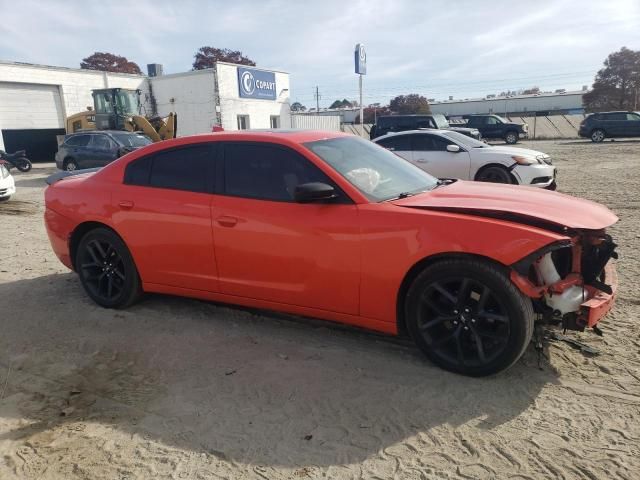
[(440, 182), (354, 135), (182, 137), (54, 177), (53, 250), (107, 308), (157, 292), (408, 332), (480, 376), (512, 365), (535, 321), (581, 330), (613, 304), (606, 207)]

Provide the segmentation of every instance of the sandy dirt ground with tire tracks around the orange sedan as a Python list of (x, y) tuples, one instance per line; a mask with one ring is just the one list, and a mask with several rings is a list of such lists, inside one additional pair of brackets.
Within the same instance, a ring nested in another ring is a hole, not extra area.
[[(621, 221), (604, 337), (506, 373), (444, 372), (410, 344), (149, 296), (101, 309), (50, 251), (51, 165), (0, 204), (0, 478), (638, 478), (640, 142), (523, 144)], [(635, 474), (633, 472), (636, 472)]]

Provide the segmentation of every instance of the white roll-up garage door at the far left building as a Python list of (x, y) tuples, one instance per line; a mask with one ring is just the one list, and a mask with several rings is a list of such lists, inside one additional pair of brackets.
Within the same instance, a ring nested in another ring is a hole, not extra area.
[(57, 85), (0, 82), (0, 128), (63, 128)]

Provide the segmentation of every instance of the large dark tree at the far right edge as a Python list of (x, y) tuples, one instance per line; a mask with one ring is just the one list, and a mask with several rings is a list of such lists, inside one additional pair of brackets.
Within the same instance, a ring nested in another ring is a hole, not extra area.
[(640, 98), (640, 51), (622, 47), (604, 61), (593, 88), (582, 96), (588, 112), (633, 110)]

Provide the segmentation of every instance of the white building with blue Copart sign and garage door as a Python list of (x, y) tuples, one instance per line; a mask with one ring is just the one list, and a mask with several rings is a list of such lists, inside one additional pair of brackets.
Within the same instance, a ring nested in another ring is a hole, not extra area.
[[(156, 69), (158, 70), (158, 69)], [(161, 70), (161, 69), (159, 69)], [(147, 77), (0, 62), (0, 149), (51, 161), (65, 118), (93, 105), (91, 90), (140, 90), (142, 113), (178, 115), (178, 135), (291, 126), (289, 74), (219, 62), (215, 68)]]

